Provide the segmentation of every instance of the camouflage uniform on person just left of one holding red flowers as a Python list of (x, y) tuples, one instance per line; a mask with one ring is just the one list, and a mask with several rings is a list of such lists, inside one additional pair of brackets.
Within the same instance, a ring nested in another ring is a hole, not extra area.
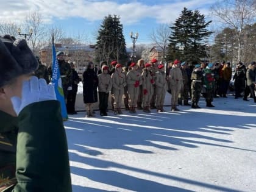
[(198, 102), (202, 91), (202, 71), (194, 69), (191, 74), (191, 101), (192, 108), (199, 108)]

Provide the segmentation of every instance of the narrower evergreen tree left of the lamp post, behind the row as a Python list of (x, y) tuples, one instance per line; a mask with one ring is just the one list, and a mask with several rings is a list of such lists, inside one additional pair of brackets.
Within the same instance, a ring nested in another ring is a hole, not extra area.
[(124, 63), (127, 60), (126, 43), (123, 35), (123, 25), (116, 15), (105, 16), (98, 31), (96, 43), (96, 62), (110, 63), (117, 60)]

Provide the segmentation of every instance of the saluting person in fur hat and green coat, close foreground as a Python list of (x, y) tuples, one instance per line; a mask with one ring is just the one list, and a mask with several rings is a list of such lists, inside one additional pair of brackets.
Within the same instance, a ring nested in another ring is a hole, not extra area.
[(26, 40), (0, 37), (0, 191), (71, 192), (60, 103), (37, 67)]

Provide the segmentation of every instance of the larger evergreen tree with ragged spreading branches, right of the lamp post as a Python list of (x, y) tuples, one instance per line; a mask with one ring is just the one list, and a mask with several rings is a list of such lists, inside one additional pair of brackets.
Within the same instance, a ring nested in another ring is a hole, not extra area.
[(199, 62), (200, 58), (206, 57), (204, 40), (212, 34), (206, 29), (210, 23), (212, 21), (205, 22), (205, 16), (198, 10), (193, 12), (184, 7), (174, 26), (170, 27), (169, 59)]

